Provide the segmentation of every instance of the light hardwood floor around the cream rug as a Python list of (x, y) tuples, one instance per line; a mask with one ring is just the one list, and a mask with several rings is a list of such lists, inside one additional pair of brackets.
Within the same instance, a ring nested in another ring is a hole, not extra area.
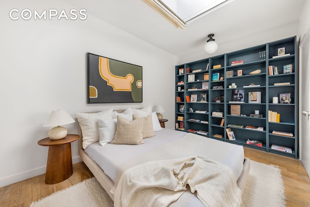
[[(244, 147), (245, 157), (265, 164), (278, 165), (284, 181), (287, 207), (310, 207), (310, 179), (301, 163), (272, 153)], [(83, 162), (73, 165), (73, 175), (57, 184), (45, 184), (45, 174), (0, 188), (0, 207), (29, 207), (44, 198), (93, 177)], [(262, 198), (263, 199), (263, 198)]]

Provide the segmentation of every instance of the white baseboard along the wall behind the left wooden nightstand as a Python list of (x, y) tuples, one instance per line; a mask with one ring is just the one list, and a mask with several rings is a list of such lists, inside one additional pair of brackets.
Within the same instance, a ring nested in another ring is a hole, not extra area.
[[(72, 164), (76, 164), (81, 161), (82, 159), (79, 156), (72, 158)], [(46, 169), (47, 169), (47, 166), (43, 166), (43, 167), (39, 167), (39, 168), (26, 171), (23, 173), (18, 173), (16, 175), (11, 175), (11, 176), (0, 178), (0, 188), (7, 186), (7, 185), (11, 185), (13, 183), (17, 183), (22, 180), (26, 180), (31, 177), (45, 174)]]

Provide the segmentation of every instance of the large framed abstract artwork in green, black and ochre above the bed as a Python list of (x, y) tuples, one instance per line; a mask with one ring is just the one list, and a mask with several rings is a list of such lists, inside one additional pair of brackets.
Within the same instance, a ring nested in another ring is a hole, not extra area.
[(142, 102), (142, 66), (87, 53), (87, 103)]

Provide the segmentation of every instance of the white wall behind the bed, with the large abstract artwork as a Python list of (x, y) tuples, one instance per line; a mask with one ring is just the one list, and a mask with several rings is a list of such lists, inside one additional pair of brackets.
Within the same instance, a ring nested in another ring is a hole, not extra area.
[[(3, 1), (3, 0), (1, 0)], [(177, 58), (97, 18), (12, 20), (11, 9), (72, 9), (62, 1), (1, 2), (0, 19), (0, 187), (45, 173), (48, 147), (42, 127), (49, 113), (141, 108), (161, 104), (166, 127), (174, 126), (174, 65)], [(78, 8), (81, 9), (81, 8)], [(86, 13), (87, 14), (87, 13)], [(86, 53), (143, 66), (143, 103), (87, 104)], [(78, 123), (66, 125), (78, 133)], [(78, 162), (78, 142), (72, 143)]]

